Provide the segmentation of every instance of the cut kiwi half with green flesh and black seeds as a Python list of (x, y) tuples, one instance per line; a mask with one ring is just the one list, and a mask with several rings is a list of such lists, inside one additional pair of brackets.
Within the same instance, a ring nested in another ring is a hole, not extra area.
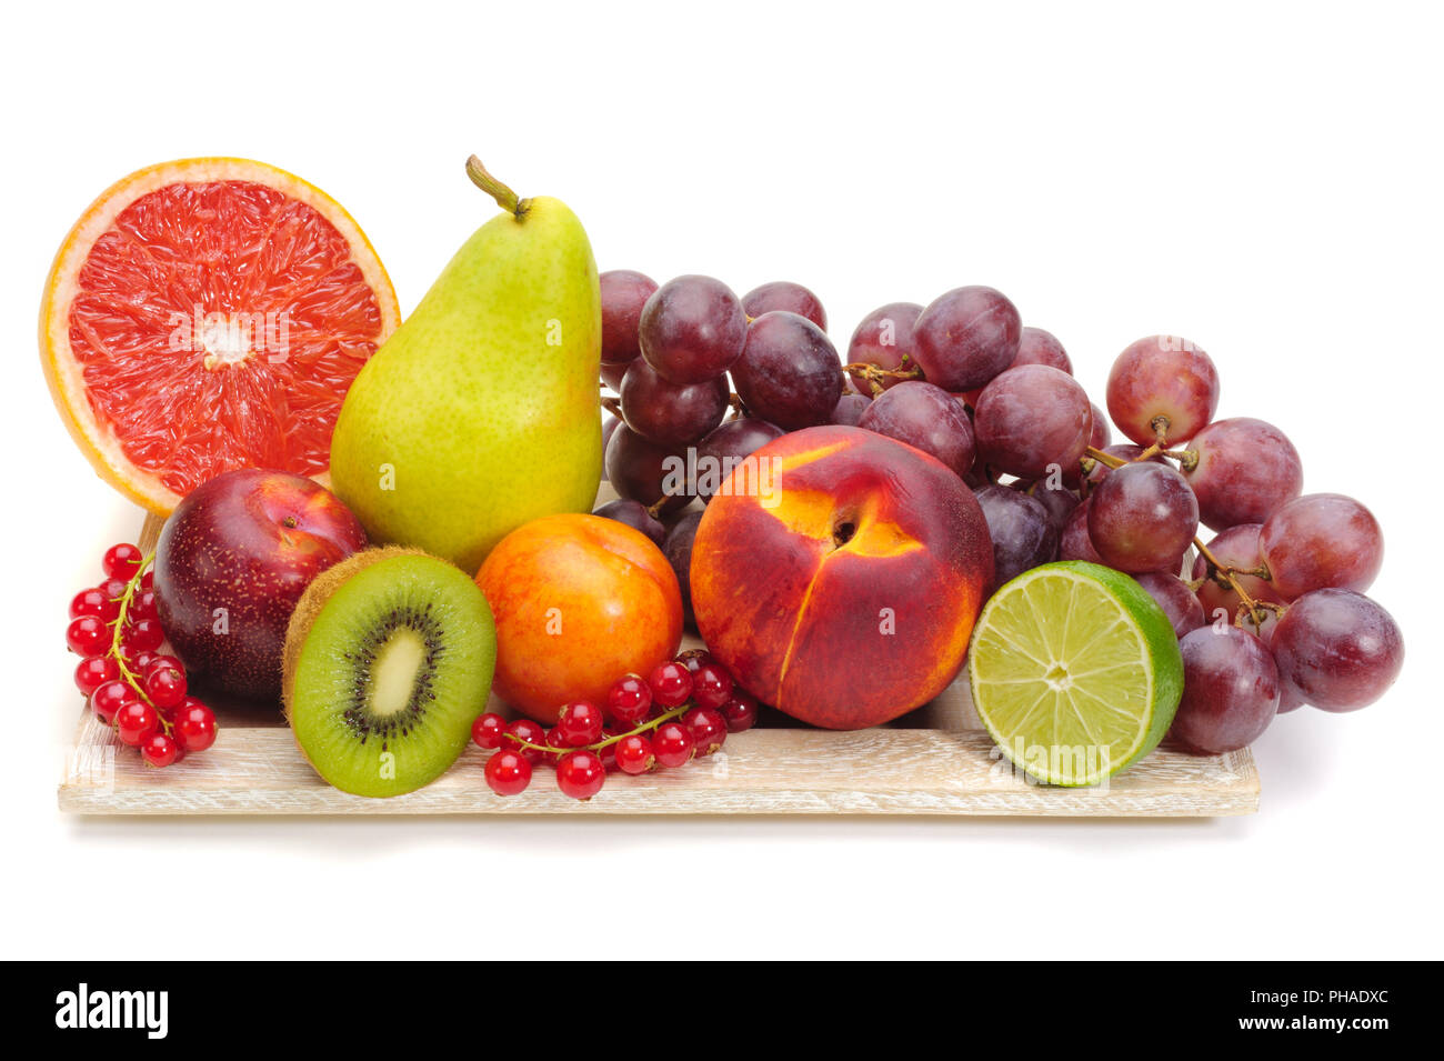
[(481, 588), (412, 549), (322, 572), (286, 628), (282, 696), (302, 754), (357, 795), (440, 777), (487, 706), (497, 632)]

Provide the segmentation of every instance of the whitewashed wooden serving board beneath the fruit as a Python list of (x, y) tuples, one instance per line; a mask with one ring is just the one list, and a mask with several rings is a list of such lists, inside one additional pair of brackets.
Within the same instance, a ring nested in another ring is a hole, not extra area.
[[(149, 518), (142, 549), (159, 521)], [(498, 706), (492, 703), (492, 707)], [(578, 803), (537, 769), (503, 798), (481, 775), (475, 745), (443, 777), (409, 795), (368, 800), (322, 781), (280, 712), (217, 710), (206, 752), (166, 769), (144, 767), (108, 726), (81, 713), (59, 805), (78, 814), (933, 814), (1045, 817), (1216, 817), (1252, 814), (1259, 777), (1249, 749), (1199, 756), (1158, 748), (1099, 788), (1050, 788), (1014, 771), (982, 732), (966, 671), (928, 704), (856, 732), (793, 728), (777, 715), (722, 751), (644, 777), (615, 774)]]

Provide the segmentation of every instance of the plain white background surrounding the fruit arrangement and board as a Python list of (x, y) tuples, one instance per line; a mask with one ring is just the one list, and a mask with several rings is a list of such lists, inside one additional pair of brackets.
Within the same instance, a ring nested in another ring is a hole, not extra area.
[[(6, 957), (547, 956), (566, 924), (593, 956), (1440, 957), (1437, 13), (192, 0), (7, 20)], [(139, 515), (40, 375), (61, 237), (133, 169), (258, 157), (357, 217), (409, 310), (494, 212), (474, 150), (565, 198), (602, 268), (800, 280), (839, 344), (875, 305), (963, 283), (1054, 331), (1095, 398), (1132, 339), (1194, 339), (1220, 414), (1278, 423), (1307, 489), (1379, 515), (1404, 677), (1356, 715), (1279, 719), (1262, 810), (1233, 820), (62, 817), (64, 609)], [(169, 930), (113, 914), (136, 892)]]

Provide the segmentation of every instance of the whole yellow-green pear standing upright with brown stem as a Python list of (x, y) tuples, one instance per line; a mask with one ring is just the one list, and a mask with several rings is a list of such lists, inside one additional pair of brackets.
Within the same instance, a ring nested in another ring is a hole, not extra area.
[(347, 393), (331, 442), (336, 495), (373, 541), (475, 573), (507, 533), (588, 512), (602, 468), (601, 292), (592, 247), (557, 199), (517, 199), (462, 245)]

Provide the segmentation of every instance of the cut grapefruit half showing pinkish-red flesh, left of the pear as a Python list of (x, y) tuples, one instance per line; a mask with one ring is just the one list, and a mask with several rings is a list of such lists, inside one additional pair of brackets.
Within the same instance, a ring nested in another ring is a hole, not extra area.
[(351, 380), (396, 292), (339, 204), (247, 159), (131, 173), (75, 222), (45, 284), (40, 359), (103, 479), (153, 512), (232, 468), (328, 482)]

